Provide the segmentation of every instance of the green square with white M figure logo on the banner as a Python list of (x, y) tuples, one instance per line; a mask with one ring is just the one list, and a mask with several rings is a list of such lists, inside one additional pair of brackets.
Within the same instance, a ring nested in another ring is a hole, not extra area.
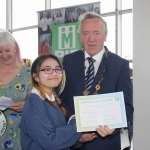
[(52, 27), (52, 54), (62, 61), (64, 55), (73, 53), (82, 48), (78, 34), (79, 23), (53, 25)]

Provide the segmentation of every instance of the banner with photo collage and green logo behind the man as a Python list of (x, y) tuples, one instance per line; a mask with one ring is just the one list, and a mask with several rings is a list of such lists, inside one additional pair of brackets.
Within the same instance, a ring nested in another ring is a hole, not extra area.
[(38, 12), (38, 55), (54, 54), (62, 61), (81, 50), (78, 18), (89, 11), (100, 14), (100, 2)]

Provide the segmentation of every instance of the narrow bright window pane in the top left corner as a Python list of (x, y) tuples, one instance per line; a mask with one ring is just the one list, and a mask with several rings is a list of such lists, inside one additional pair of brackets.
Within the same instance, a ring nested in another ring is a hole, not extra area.
[(6, 0), (0, 0), (0, 29), (6, 29)]

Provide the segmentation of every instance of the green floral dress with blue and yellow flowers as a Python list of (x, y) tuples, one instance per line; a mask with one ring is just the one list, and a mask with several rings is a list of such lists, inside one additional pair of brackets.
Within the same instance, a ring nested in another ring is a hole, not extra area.
[[(23, 66), (16, 77), (7, 86), (0, 81), (0, 97), (11, 98), (14, 102), (25, 101), (32, 89), (30, 68)], [(21, 113), (5, 109), (2, 111), (7, 120), (7, 129), (0, 136), (0, 150), (22, 150), (20, 139)], [(1, 122), (1, 120), (0, 120)]]

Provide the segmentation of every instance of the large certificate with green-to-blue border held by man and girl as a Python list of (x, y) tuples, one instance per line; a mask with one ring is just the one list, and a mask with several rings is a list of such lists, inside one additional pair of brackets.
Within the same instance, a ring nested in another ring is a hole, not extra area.
[(95, 131), (99, 125), (127, 127), (123, 92), (74, 96), (78, 132)]

